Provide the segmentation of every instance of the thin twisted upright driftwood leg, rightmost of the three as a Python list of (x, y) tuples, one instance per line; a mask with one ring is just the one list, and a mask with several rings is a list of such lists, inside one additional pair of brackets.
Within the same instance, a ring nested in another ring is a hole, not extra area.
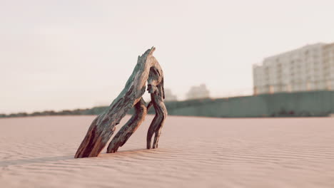
[(151, 149), (151, 140), (154, 134), (154, 141), (152, 148), (158, 148), (158, 140), (161, 135), (161, 130), (163, 123), (167, 117), (166, 106), (163, 103), (165, 98), (165, 91), (163, 88), (163, 71), (159, 65), (156, 63), (156, 66), (151, 67), (150, 74), (148, 75), (148, 93), (151, 93), (151, 103), (156, 115), (154, 116), (150, 127), (148, 128), (147, 137), (146, 137), (146, 148)]

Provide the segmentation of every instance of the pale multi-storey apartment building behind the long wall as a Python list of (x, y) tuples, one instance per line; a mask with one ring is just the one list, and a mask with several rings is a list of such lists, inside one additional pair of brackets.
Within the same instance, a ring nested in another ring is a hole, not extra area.
[(253, 65), (254, 95), (334, 90), (334, 43), (316, 43)]

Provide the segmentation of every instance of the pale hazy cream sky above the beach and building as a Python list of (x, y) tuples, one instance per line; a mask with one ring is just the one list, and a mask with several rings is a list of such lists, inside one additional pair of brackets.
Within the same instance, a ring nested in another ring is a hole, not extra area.
[(0, 0), (0, 113), (109, 105), (151, 46), (179, 100), (201, 83), (213, 98), (251, 94), (254, 63), (334, 42), (333, 7), (333, 0)]

